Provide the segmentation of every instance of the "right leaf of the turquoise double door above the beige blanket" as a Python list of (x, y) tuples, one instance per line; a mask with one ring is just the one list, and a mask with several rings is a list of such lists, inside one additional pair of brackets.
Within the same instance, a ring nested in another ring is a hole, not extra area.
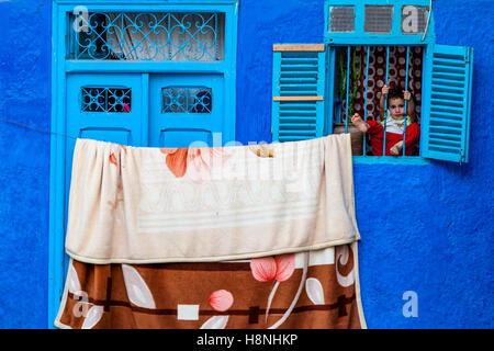
[(222, 75), (159, 73), (149, 77), (149, 146), (221, 146), (225, 128)]

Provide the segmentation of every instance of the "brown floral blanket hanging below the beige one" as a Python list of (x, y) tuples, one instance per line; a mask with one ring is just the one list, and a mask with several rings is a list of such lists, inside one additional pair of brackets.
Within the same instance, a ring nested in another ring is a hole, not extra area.
[(357, 242), (221, 262), (71, 260), (60, 328), (366, 328)]

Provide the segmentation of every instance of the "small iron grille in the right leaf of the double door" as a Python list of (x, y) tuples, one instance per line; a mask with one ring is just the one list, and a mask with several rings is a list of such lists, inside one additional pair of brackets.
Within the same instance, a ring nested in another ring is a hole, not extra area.
[(164, 113), (211, 113), (213, 110), (211, 88), (166, 87), (161, 92)]

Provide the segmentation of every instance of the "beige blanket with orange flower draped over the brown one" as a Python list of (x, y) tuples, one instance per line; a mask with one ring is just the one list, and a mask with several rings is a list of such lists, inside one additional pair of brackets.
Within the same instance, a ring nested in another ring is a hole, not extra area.
[(349, 134), (260, 151), (77, 140), (66, 240), (76, 260), (220, 261), (359, 238)]

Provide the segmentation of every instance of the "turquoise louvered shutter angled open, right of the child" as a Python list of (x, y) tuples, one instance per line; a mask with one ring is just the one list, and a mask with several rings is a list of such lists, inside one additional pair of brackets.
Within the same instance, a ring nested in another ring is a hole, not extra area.
[(468, 162), (473, 49), (431, 45), (427, 52), (422, 156)]

